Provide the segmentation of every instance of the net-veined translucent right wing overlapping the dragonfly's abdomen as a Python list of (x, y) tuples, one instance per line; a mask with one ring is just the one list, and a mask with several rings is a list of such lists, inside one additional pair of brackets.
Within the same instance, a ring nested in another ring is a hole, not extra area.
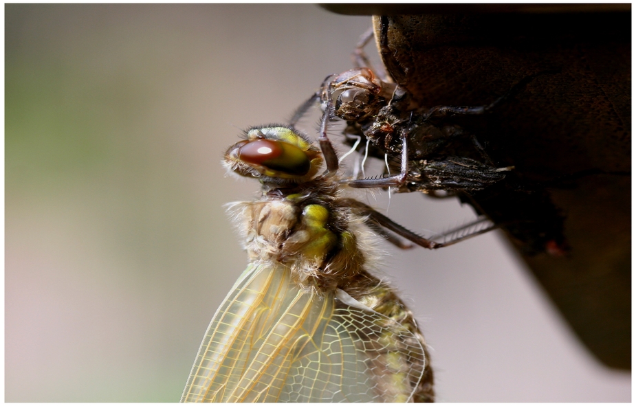
[(331, 317), (294, 360), (280, 401), (410, 401), (426, 367), (419, 339), (343, 291), (331, 300)]

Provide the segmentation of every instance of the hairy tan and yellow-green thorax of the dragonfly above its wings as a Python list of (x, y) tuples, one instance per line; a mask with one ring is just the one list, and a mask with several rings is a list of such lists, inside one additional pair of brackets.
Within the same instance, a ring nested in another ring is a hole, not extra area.
[(241, 221), (250, 261), (284, 264), (302, 289), (319, 295), (349, 284), (367, 258), (358, 243), (364, 231), (355, 227), (362, 221), (338, 199), (321, 198), (264, 194), (261, 201), (230, 208)]

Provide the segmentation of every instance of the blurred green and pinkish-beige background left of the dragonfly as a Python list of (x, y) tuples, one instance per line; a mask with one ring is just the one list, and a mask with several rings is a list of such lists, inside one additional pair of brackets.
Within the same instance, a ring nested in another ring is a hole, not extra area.
[(6, 401), (178, 401), (246, 262), (223, 150), (369, 19), (330, 68), (315, 5), (5, 7)]

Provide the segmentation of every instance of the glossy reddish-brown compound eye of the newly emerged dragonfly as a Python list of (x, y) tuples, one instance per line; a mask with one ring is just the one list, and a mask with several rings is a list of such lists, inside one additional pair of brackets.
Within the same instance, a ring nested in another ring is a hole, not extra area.
[(287, 142), (273, 139), (256, 139), (240, 146), (237, 157), (245, 163), (264, 166), (275, 172), (303, 176), (311, 163), (305, 151)]

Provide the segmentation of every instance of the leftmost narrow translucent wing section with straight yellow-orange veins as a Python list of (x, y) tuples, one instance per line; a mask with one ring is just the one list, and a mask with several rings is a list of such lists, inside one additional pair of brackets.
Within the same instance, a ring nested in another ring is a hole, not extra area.
[[(182, 402), (231, 401), (263, 336), (292, 298), (289, 271), (248, 265), (212, 318), (190, 372)], [(285, 296), (285, 297), (283, 297)], [(286, 306), (287, 305), (287, 306)]]

